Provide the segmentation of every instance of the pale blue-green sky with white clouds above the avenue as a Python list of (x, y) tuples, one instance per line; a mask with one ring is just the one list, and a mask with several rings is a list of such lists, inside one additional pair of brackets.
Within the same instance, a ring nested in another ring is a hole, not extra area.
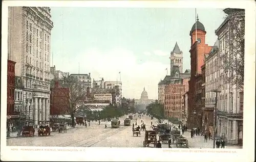
[[(197, 14), (206, 43), (214, 45), (225, 13), (208, 8)], [(51, 65), (63, 72), (90, 72), (95, 80), (121, 78), (125, 98), (139, 99), (145, 87), (148, 98), (157, 99), (176, 42), (183, 51), (183, 72), (190, 69), (195, 8), (52, 7), (51, 15)]]

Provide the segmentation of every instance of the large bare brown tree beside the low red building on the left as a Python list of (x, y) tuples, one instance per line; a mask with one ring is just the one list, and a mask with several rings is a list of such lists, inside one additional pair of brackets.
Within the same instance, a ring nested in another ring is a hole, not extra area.
[[(86, 87), (79, 82), (79, 80), (73, 76), (63, 76), (62, 86), (68, 88), (69, 93), (66, 93), (66, 98), (68, 102), (68, 113), (71, 116), (72, 127), (75, 127), (75, 113), (80, 107), (83, 106), (83, 100), (86, 99)], [(78, 103), (80, 102), (80, 105)]]

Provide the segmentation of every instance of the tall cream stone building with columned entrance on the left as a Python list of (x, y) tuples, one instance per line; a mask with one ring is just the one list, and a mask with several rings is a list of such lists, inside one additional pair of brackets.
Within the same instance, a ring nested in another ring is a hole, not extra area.
[(50, 38), (49, 7), (9, 7), (8, 55), (24, 85), (23, 112), (38, 125), (49, 119)]

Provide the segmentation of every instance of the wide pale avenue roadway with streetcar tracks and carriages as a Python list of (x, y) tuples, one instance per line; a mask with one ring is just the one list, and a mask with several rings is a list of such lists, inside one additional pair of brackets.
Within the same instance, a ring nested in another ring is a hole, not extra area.
[[(50, 136), (38, 137), (35, 132), (35, 137), (17, 137), (7, 139), (7, 146), (57, 146), (57, 147), (143, 147), (145, 131), (141, 131), (141, 136), (133, 136), (132, 124), (141, 125), (141, 120), (146, 124), (146, 130), (151, 130), (151, 121), (153, 125), (157, 125), (157, 119), (151, 120), (150, 117), (144, 116), (139, 119), (138, 116), (131, 120), (131, 126), (123, 126), (121, 117), (119, 128), (111, 128), (111, 122), (91, 122), (91, 126), (77, 126), (67, 130), (67, 133), (51, 132)], [(167, 122), (167, 121), (164, 121)], [(104, 128), (104, 125), (107, 128)], [(212, 139), (204, 142), (203, 136), (195, 136), (190, 138), (190, 132), (184, 132), (183, 136), (188, 139), (189, 148), (212, 148)], [(153, 147), (153, 145), (150, 145)], [(175, 148), (175, 144), (172, 144)], [(162, 144), (162, 148), (168, 148), (168, 144)], [(226, 146), (226, 148), (241, 148), (239, 146)]]

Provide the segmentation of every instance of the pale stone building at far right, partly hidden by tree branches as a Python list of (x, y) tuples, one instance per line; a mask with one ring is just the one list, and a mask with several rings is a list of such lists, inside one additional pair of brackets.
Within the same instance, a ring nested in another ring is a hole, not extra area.
[[(217, 136), (223, 137), (227, 144), (243, 144), (243, 89), (237, 88), (236, 84), (231, 84), (228, 82), (228, 77), (235, 75), (231, 68), (225, 66), (225, 59), (232, 56), (238, 57), (238, 52), (234, 53), (230, 47), (229, 40), (230, 32), (234, 29), (230, 28), (230, 21), (232, 21), (231, 16), (240, 12), (240, 17), (238, 18), (238, 26), (244, 23), (244, 13), (243, 9), (225, 9), (223, 10), (228, 16), (215, 31), (219, 40), (219, 52), (218, 60), (220, 65), (220, 95), (218, 96), (219, 104), (217, 107)], [(233, 43), (236, 39), (233, 39)], [(240, 52), (243, 52), (240, 49)]]

